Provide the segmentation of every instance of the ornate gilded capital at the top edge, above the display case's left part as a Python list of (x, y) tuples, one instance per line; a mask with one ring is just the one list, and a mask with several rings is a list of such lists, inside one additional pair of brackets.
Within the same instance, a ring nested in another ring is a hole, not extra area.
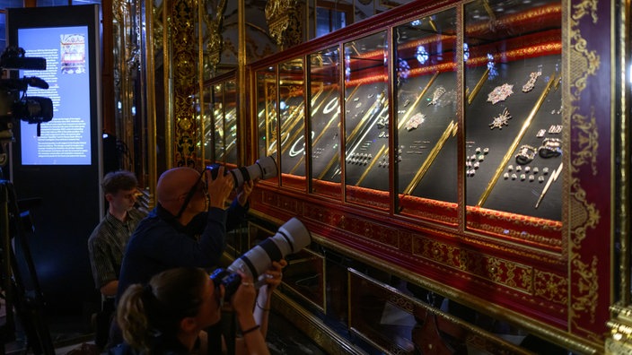
[(298, 45), (303, 40), (301, 14), (297, 0), (268, 0), (266, 20), (270, 37), (279, 50)]

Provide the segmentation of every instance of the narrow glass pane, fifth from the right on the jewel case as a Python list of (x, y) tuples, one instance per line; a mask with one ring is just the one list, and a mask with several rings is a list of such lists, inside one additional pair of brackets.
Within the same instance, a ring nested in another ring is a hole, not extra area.
[[(305, 95), (303, 59), (279, 65), (279, 119), (281, 125), (281, 184), (306, 189)], [(301, 178), (297, 178), (301, 177)]]

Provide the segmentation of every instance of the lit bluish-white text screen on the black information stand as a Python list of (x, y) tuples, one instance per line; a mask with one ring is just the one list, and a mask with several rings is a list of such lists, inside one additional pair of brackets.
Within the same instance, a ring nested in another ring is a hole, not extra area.
[(19, 29), (26, 56), (46, 59), (46, 71), (20, 71), (37, 76), (48, 89), (30, 88), (29, 94), (53, 101), (55, 119), (38, 127), (22, 121), (22, 165), (90, 165), (90, 56), (87, 26)]

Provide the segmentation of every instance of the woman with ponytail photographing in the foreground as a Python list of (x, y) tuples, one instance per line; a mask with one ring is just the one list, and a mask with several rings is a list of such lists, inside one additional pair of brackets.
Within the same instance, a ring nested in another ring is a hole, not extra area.
[[(269, 307), (270, 295), (281, 283), (285, 265), (285, 260), (272, 264), (264, 275), (266, 284), (260, 288), (259, 297), (252, 280), (241, 275), (241, 284), (230, 301), (241, 328), (237, 354), (269, 353), (265, 342), (268, 312), (261, 309)], [(171, 269), (154, 276), (146, 286), (130, 286), (118, 304), (118, 323), (126, 343), (110, 353), (206, 353), (203, 330), (220, 321), (224, 292), (224, 285), (217, 287), (200, 268)]]

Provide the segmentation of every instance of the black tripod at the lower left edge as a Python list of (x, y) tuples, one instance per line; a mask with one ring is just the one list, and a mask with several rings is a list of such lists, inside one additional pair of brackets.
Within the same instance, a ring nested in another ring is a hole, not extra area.
[[(0, 287), (4, 292), (6, 321), (0, 325), (4, 344), (15, 340), (16, 318), (26, 334), (26, 349), (35, 355), (54, 355), (55, 348), (43, 317), (44, 298), (31, 258), (26, 229), (30, 212), (21, 212), (13, 183), (0, 179)], [(32, 223), (31, 229), (32, 229)], [(13, 242), (12, 242), (13, 239)], [(14, 314), (13, 314), (14, 312)]]

